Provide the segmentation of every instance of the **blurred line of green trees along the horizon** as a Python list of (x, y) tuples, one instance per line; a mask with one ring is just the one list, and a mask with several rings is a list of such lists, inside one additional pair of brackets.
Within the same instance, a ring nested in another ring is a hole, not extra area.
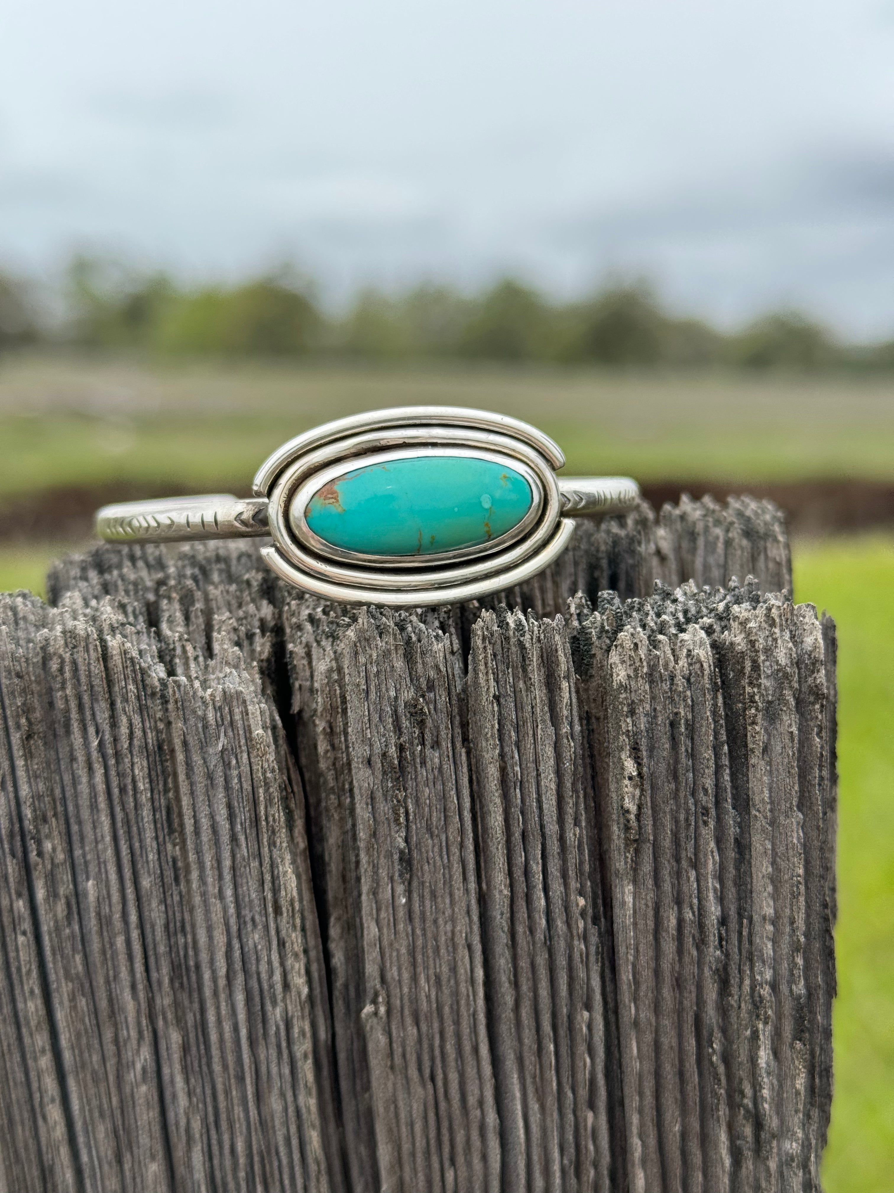
[(0, 351), (64, 342), (162, 357), (544, 361), (610, 367), (734, 367), (811, 372), (892, 369), (894, 341), (855, 346), (796, 311), (724, 334), (669, 314), (644, 284), (555, 303), (505, 278), (477, 296), (421, 285), (361, 291), (335, 317), (294, 270), (237, 285), (184, 288), (107, 259), (79, 256), (55, 322), (25, 280), (0, 274)]

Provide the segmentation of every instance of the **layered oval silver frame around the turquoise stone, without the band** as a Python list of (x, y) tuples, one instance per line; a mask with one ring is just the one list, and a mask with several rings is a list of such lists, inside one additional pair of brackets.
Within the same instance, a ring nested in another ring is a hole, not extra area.
[[(367, 460), (427, 455), (474, 456), (516, 468), (532, 484), (532, 509), (498, 539), (437, 556), (344, 551), (306, 525), (305, 496), (327, 478)], [(273, 538), (261, 554), (284, 580), (335, 601), (418, 607), (484, 596), (541, 571), (567, 545), (573, 521), (561, 518), (555, 478), (564, 462), (535, 427), (483, 410), (402, 407), (340, 419), (292, 439), (259, 469), (255, 493), (268, 499)]]

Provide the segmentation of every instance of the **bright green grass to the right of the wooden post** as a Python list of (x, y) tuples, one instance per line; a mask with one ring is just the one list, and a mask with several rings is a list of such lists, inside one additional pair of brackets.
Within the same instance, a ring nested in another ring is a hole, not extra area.
[(894, 1187), (894, 539), (796, 544), (838, 623), (838, 1000), (826, 1193)]

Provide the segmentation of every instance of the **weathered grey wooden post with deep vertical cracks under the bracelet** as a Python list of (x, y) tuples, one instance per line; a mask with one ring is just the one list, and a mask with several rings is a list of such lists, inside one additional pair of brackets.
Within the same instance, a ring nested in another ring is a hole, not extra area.
[(0, 1188), (819, 1189), (834, 626), (786, 588), (706, 499), (505, 606), (250, 545), (0, 596)]

